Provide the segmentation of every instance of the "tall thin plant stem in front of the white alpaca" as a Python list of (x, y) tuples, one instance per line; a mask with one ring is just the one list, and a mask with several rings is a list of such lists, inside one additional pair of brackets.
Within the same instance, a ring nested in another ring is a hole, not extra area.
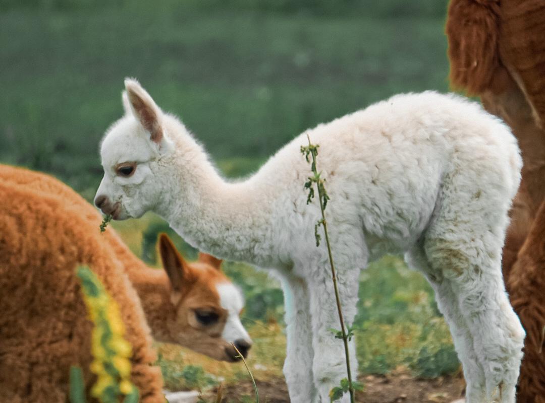
[(342, 340), (344, 343), (344, 355), (346, 356), (346, 370), (348, 373), (348, 392), (350, 393), (350, 401), (352, 403), (355, 403), (356, 400), (355, 400), (354, 386), (352, 385), (352, 371), (350, 371), (350, 356), (348, 354), (348, 336), (344, 328), (344, 318), (343, 318), (342, 308), (341, 308), (341, 298), (339, 297), (339, 292), (337, 287), (337, 274), (335, 270), (335, 263), (333, 262), (333, 255), (331, 253), (331, 244), (329, 242), (328, 222), (325, 220), (323, 182), (320, 185), (320, 181), (323, 181), (323, 179), (319, 178), (318, 169), (316, 168), (317, 149), (316, 148), (312, 149), (312, 144), (308, 134), (307, 134), (307, 139), (308, 139), (308, 146), (310, 148), (310, 154), (312, 155), (312, 167), (313, 167), (314, 177), (317, 180), (316, 185), (318, 188), (318, 200), (320, 201), (320, 210), (322, 211), (321, 224), (324, 227), (325, 243), (328, 246), (329, 264), (331, 266), (331, 279), (333, 280), (333, 288), (335, 290), (335, 301), (337, 302), (337, 313), (339, 315), (339, 322), (341, 324)]

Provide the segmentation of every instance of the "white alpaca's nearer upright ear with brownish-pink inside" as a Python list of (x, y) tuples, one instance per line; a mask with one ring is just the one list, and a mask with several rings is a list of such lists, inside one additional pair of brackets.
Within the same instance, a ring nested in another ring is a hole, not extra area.
[(159, 107), (135, 79), (125, 79), (125, 90), (132, 113), (149, 132), (150, 139), (160, 144), (163, 138), (163, 129), (159, 121), (161, 113)]

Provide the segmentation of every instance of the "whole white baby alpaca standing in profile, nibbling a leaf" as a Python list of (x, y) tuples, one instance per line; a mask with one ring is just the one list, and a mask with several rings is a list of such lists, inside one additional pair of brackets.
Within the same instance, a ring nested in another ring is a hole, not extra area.
[[(307, 133), (320, 146), (331, 197), (326, 216), (347, 323), (360, 271), (385, 253), (405, 253), (449, 323), (468, 403), (514, 402), (524, 330), (500, 260), (522, 161), (501, 121), (455, 95), (398, 95), (299, 135), (249, 179), (226, 182), (176, 117), (135, 80), (125, 88), (125, 116), (102, 141), (95, 203), (114, 219), (153, 210), (198, 249), (275, 270), (286, 295), (292, 402), (328, 402), (346, 376), (342, 342), (329, 330), (338, 317), (326, 247), (314, 241), (320, 210), (302, 189)], [(355, 369), (353, 342), (350, 354)]]

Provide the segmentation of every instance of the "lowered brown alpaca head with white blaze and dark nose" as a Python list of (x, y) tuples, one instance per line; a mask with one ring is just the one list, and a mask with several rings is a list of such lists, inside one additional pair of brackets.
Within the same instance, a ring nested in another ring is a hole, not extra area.
[(221, 271), (222, 261), (200, 253), (196, 262), (186, 262), (166, 234), (159, 238), (161, 261), (168, 275), (171, 343), (184, 345), (222, 361), (246, 357), (252, 345), (240, 322), (244, 299), (239, 289)]

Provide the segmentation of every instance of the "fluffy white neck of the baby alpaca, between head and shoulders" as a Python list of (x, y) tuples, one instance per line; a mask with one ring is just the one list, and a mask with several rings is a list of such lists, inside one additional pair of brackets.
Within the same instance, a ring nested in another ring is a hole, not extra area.
[[(225, 181), (189, 135), (178, 139), (177, 152), (161, 164), (164, 197), (156, 207), (188, 243), (211, 255), (257, 265), (270, 261), (263, 250), (270, 226), (270, 201), (255, 177)], [(258, 245), (260, 251), (257, 252)]]

